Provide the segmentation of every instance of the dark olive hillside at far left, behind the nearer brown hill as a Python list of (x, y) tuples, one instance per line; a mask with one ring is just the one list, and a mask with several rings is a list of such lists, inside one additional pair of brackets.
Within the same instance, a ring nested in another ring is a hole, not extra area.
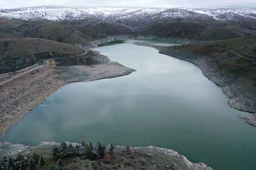
[(38, 37), (69, 44), (87, 44), (96, 38), (93, 31), (50, 20), (6, 20), (0, 17), (0, 38)]

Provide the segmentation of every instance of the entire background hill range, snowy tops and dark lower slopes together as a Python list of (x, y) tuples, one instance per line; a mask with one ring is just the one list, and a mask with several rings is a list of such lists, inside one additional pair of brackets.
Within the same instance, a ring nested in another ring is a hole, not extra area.
[(223, 40), (256, 34), (254, 8), (64, 8), (0, 11), (0, 37), (39, 37), (69, 44), (113, 35)]

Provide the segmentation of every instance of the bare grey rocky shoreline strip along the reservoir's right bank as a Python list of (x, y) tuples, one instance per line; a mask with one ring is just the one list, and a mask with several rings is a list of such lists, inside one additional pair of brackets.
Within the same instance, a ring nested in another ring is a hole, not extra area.
[[(151, 45), (141, 42), (135, 42), (134, 44), (156, 48), (159, 50), (160, 54), (165, 54), (192, 62), (201, 69), (202, 74), (204, 74), (205, 77), (222, 88), (224, 94), (229, 98), (228, 105), (230, 105), (231, 108), (248, 113), (256, 113), (256, 102), (252, 99), (248, 99), (246, 93), (241, 90), (241, 87), (234, 83), (234, 78), (230, 76), (227, 71), (219, 68), (215, 61), (213, 61), (210, 57), (201, 56), (199, 54), (185, 53), (183, 51), (165, 51), (164, 46), (159, 45)], [(187, 56), (190, 56), (190, 58)], [(242, 116), (241, 118), (250, 125), (256, 126), (255, 115)]]

